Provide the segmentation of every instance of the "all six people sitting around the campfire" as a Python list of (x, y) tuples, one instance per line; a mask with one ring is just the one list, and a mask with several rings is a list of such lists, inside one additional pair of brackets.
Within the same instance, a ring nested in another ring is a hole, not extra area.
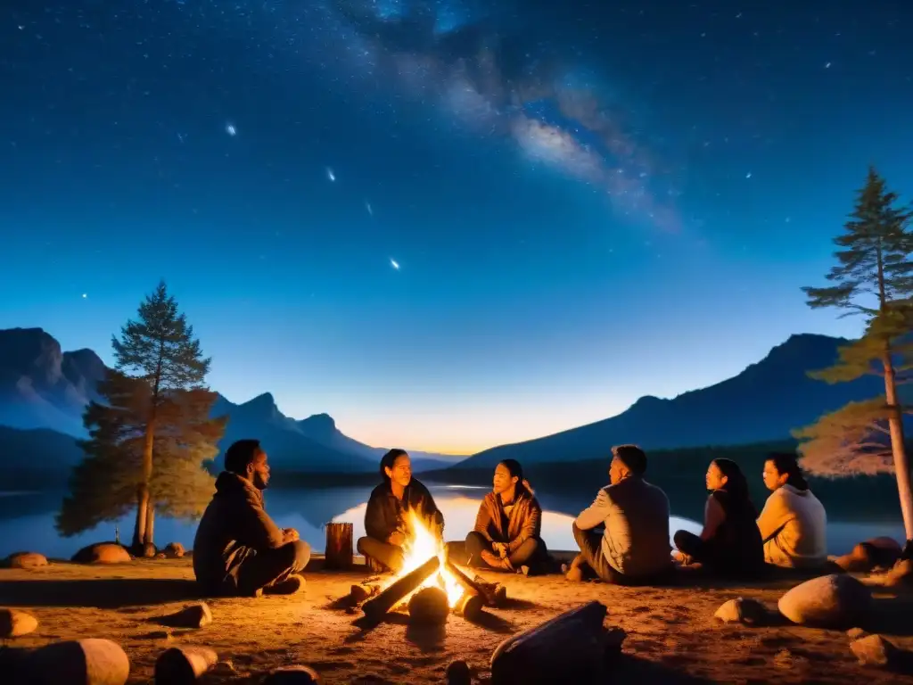
[[(356, 546), (375, 569), (398, 573), (413, 516), (443, 540), (444, 515), (413, 478), (403, 449), (387, 452), (380, 471), (383, 481), (368, 500), (366, 534)], [(647, 482), (645, 472), (641, 448), (612, 449), (609, 485), (572, 525), (580, 553), (563, 566), (569, 580), (648, 585), (662, 582), (677, 566), (697, 564), (711, 574), (749, 579), (768, 564), (803, 569), (826, 564), (824, 506), (793, 455), (774, 454), (766, 461), (763, 480), (772, 492), (760, 515), (739, 465), (725, 458), (710, 462), (703, 530), (677, 531), (676, 549), (670, 545), (666, 493)], [(226, 450), (225, 470), (194, 540), (194, 574), (206, 593), (290, 594), (303, 585), (300, 574), (310, 547), (297, 531), (280, 529), (269, 518), (263, 506), (268, 482), (267, 454), (259, 441), (239, 440)], [(447, 553), (494, 571), (546, 572), (552, 562), (541, 538), (541, 515), (519, 462), (505, 459), (495, 468), (492, 490), (463, 548), (448, 543)]]

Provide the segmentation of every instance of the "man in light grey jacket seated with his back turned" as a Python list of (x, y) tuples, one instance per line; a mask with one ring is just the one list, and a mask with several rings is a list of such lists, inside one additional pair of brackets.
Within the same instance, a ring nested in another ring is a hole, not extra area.
[[(593, 572), (606, 583), (638, 585), (672, 571), (669, 501), (663, 490), (645, 481), (645, 471), (641, 448), (612, 448), (610, 484), (573, 523), (581, 553), (567, 571), (568, 580)], [(603, 525), (602, 535), (593, 531)]]

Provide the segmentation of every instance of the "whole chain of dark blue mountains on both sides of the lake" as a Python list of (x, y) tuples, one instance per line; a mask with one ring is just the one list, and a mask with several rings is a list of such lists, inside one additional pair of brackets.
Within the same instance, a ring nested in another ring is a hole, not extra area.
[[(808, 377), (807, 372), (834, 364), (838, 349), (848, 342), (825, 335), (792, 335), (760, 362), (721, 383), (672, 399), (646, 395), (621, 414), (587, 426), (487, 449), (469, 458), (410, 454), (416, 471), (489, 469), (504, 458), (524, 464), (600, 458), (624, 442), (658, 449), (782, 440), (790, 437), (793, 428), (847, 402), (883, 392), (877, 376), (836, 385)], [(9, 430), (0, 433), (7, 463), (12, 459), (15, 465), (21, 459), (34, 469), (35, 460), (44, 458), (41, 446), (49, 444), (52, 432), (70, 439), (82, 437), (80, 415), (95, 398), (104, 371), (96, 353), (61, 352), (58, 341), (41, 329), (0, 331), (0, 427), (22, 432), (15, 438), (16, 449), (9, 448), (14, 440)], [(327, 414), (304, 419), (285, 416), (269, 393), (242, 404), (219, 395), (213, 414), (229, 416), (222, 447), (239, 437), (258, 437), (277, 469), (369, 473), (377, 469), (385, 451), (344, 435)], [(55, 439), (59, 448), (62, 443)], [(33, 448), (24, 447), (33, 444)], [(67, 459), (72, 458), (74, 453), (64, 451)]]

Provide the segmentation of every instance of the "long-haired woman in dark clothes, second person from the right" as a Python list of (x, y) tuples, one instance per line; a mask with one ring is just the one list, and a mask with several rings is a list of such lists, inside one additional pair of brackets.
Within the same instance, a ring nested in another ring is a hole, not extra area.
[(699, 563), (711, 573), (734, 578), (759, 574), (764, 548), (745, 474), (731, 459), (717, 458), (710, 462), (706, 483), (710, 496), (704, 529), (700, 535), (676, 532), (677, 561)]

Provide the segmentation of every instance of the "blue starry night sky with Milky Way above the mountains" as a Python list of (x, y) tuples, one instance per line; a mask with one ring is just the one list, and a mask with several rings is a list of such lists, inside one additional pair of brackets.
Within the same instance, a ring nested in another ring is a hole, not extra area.
[(869, 163), (913, 195), (907, 0), (4, 6), (0, 327), (110, 362), (164, 278), (214, 389), (374, 445), (855, 335), (799, 289)]

